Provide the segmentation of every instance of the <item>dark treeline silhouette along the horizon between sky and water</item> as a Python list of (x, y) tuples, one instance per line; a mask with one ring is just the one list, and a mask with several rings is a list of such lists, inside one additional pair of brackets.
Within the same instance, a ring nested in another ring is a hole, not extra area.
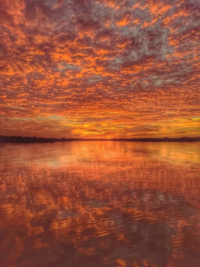
[(53, 143), (71, 141), (127, 141), (127, 142), (199, 142), (200, 137), (181, 137), (181, 138), (112, 138), (112, 139), (84, 139), (84, 138), (44, 138), (44, 137), (22, 137), (22, 136), (3, 136), (0, 135), (0, 143)]

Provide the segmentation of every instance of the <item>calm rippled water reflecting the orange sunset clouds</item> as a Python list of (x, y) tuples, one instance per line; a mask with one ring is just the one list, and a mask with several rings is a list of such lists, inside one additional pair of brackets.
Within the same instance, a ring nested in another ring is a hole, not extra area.
[(200, 143), (0, 144), (0, 266), (200, 266)]

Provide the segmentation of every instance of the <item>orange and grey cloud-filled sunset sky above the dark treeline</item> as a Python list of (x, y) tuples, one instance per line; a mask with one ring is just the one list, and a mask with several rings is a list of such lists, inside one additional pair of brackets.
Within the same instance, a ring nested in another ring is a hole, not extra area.
[(200, 136), (200, 1), (0, 0), (0, 134)]

